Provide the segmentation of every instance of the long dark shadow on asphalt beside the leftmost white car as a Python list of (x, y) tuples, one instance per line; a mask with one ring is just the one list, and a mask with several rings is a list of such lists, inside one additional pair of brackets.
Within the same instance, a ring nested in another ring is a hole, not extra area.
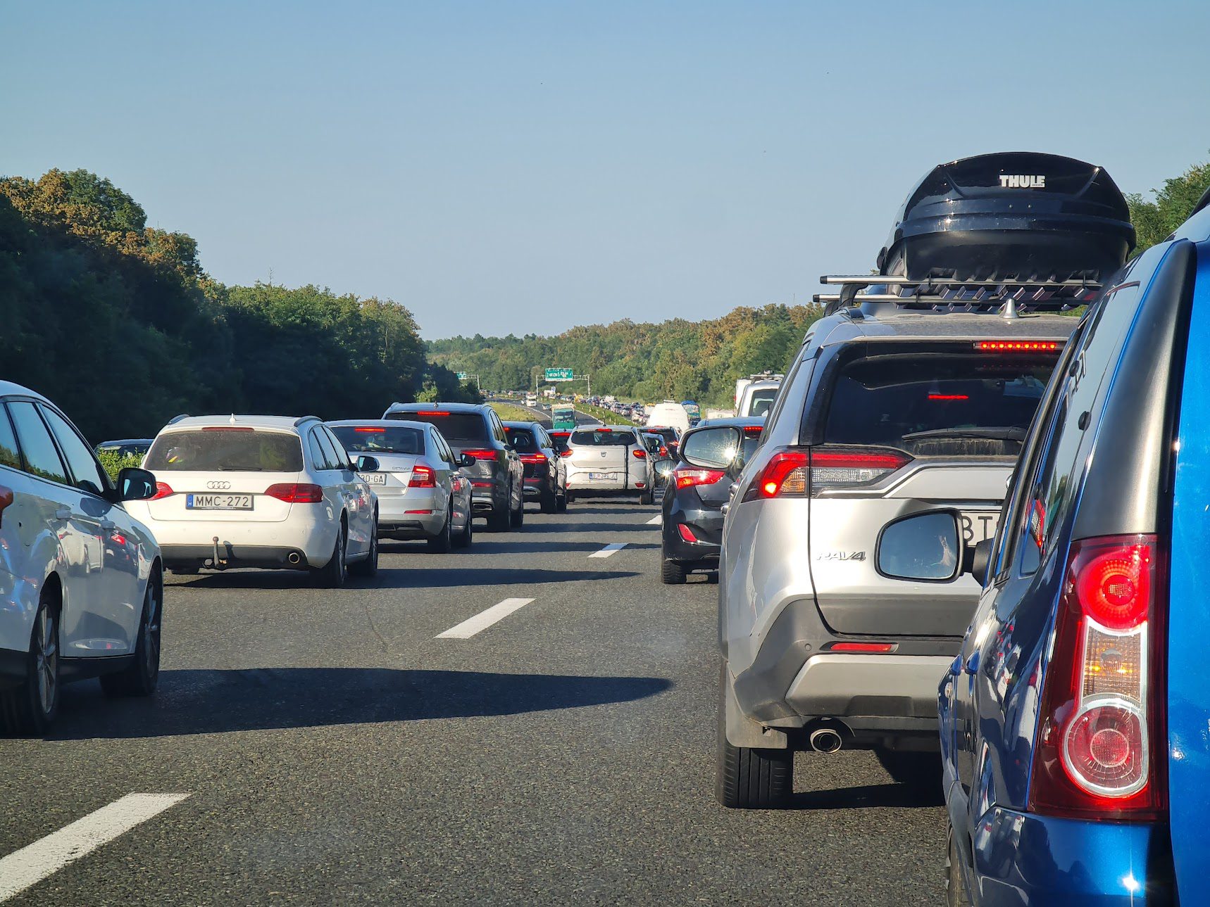
[(629, 703), (672, 687), (663, 677), (255, 668), (160, 675), (154, 699), (106, 700), (69, 686), (52, 739), (178, 736), (270, 728), (465, 718)]

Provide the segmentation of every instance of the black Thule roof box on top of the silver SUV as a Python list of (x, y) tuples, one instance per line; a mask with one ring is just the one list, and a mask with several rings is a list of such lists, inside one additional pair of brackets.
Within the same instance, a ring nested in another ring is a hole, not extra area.
[(1100, 167), (1007, 151), (934, 167), (908, 195), (878, 272), (911, 281), (1100, 282), (1135, 244)]

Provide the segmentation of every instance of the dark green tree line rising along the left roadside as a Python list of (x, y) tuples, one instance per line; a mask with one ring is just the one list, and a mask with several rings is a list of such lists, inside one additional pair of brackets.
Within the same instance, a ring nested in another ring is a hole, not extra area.
[(94, 441), (180, 412), (379, 416), (472, 399), (391, 300), (211, 278), (188, 235), (149, 227), (86, 171), (0, 179), (0, 377), (46, 394)]

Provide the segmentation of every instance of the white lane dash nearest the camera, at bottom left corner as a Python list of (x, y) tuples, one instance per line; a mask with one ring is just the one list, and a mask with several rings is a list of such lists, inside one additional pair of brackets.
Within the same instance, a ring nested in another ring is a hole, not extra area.
[(65, 825), (57, 832), (15, 850), (0, 860), (0, 901), (7, 901), (85, 854), (108, 844), (185, 799), (188, 793), (127, 793), (108, 807)]

